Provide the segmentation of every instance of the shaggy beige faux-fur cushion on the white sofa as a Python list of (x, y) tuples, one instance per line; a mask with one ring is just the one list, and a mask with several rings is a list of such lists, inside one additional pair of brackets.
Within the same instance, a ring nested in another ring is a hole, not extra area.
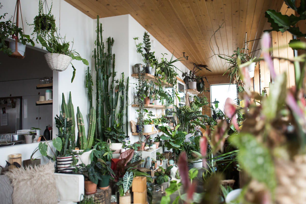
[(12, 169), (6, 176), (12, 180), (14, 204), (57, 203), (53, 162), (25, 169)]

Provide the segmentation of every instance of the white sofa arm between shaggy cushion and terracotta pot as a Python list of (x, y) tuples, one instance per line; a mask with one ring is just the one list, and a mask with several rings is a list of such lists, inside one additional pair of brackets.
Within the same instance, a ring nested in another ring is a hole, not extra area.
[(84, 195), (84, 176), (81, 174), (54, 173), (60, 200), (80, 202)]

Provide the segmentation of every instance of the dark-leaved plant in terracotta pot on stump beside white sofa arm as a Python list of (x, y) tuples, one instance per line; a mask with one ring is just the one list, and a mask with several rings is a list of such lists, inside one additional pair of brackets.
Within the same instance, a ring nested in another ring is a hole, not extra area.
[(102, 179), (94, 161), (91, 161), (88, 165), (80, 164), (79, 167), (75, 168), (74, 172), (83, 174), (86, 195), (94, 194), (97, 191), (98, 181)]

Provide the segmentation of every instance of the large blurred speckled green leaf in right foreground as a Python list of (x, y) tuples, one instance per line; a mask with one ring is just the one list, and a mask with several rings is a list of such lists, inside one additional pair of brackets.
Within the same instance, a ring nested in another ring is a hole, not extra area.
[(230, 137), (230, 142), (239, 148), (238, 161), (254, 179), (263, 182), (271, 191), (276, 187), (275, 170), (269, 150), (257, 142), (254, 135), (240, 133)]

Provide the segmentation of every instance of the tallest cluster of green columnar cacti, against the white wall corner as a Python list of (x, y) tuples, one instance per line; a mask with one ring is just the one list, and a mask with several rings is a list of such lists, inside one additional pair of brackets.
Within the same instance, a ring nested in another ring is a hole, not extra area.
[[(106, 141), (113, 137), (112, 133), (119, 134), (119, 138), (124, 136), (124, 109), (127, 103), (124, 102), (125, 89), (128, 85), (124, 85), (124, 73), (122, 79), (116, 80), (115, 72), (115, 54), (112, 54), (114, 45), (113, 38), (107, 38), (107, 51), (104, 52), (104, 43), (102, 38), (102, 24), (99, 24), (99, 16), (97, 16), (97, 39), (94, 50), (95, 71), (96, 75), (96, 138)], [(114, 85), (114, 83), (117, 85)], [(126, 97), (128, 97), (126, 95)], [(120, 99), (119, 110), (117, 111), (118, 101)], [(126, 101), (128, 99), (126, 98)], [(127, 114), (127, 113), (126, 113)], [(111, 132), (111, 134), (110, 134)], [(116, 141), (112, 141), (116, 142)], [(117, 141), (118, 142), (118, 141)]]

